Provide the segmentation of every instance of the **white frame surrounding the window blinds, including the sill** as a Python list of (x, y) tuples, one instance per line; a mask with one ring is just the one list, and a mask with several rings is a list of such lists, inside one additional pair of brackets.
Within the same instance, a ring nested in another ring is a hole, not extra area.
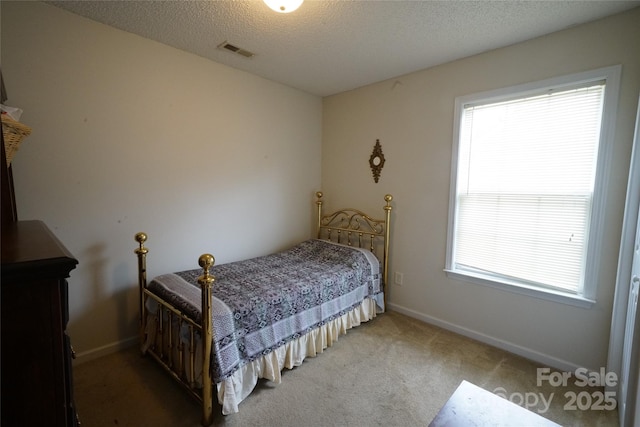
[[(456, 97), (453, 124), (453, 147), (451, 157), (451, 177), (449, 193), (449, 214), (447, 226), (447, 252), (445, 260), (445, 272), (448, 277), (471, 282), (475, 284), (503, 289), (518, 294), (529, 295), (555, 302), (561, 302), (573, 306), (589, 308), (596, 302), (598, 273), (602, 255), (602, 241), (604, 238), (604, 216), (611, 167), (613, 138), (615, 135), (616, 110), (620, 88), (620, 65), (599, 68), (576, 74), (554, 77), (522, 85), (511, 86), (486, 92)], [(605, 94), (603, 100), (602, 122), (600, 138), (598, 142), (598, 158), (596, 163), (596, 176), (593, 190), (592, 209), (589, 217), (589, 230), (587, 242), (587, 255), (584, 274), (584, 284), (581, 293), (564, 292), (535, 285), (510, 281), (489, 274), (474, 273), (468, 270), (455, 268), (455, 227), (457, 220), (457, 193), (458, 193), (458, 157), (459, 144), (464, 114), (464, 107), (469, 104), (486, 104), (518, 99), (540, 94), (545, 90), (563, 90), (589, 83), (605, 81)]]

